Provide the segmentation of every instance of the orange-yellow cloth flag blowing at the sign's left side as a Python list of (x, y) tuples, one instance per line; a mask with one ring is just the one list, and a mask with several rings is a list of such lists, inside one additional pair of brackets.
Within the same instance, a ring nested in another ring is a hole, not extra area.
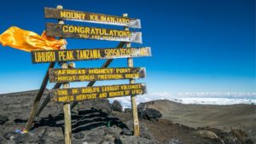
[(53, 50), (60, 49), (61, 45), (67, 44), (63, 39), (56, 40), (55, 37), (46, 37), (45, 32), (39, 36), (35, 32), (29, 32), (19, 27), (9, 27), (0, 35), (0, 43), (15, 49), (30, 52), (32, 50)]

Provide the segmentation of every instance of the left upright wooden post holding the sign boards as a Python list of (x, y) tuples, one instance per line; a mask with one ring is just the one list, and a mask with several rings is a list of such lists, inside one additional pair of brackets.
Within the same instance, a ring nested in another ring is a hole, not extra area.
[[(61, 5), (57, 6), (57, 9), (63, 9)], [(63, 20), (59, 20), (59, 24), (64, 24)], [(60, 38), (63, 39), (63, 38)], [(61, 49), (67, 49), (67, 45), (64, 44), (61, 46)], [(62, 63), (61, 68), (67, 68), (67, 63)], [(63, 89), (69, 88), (69, 83), (64, 83), (62, 85)], [(72, 140), (72, 129), (71, 129), (71, 109), (70, 109), (70, 103), (64, 103), (63, 104), (63, 111), (64, 111), (64, 124), (65, 124), (65, 144), (71, 144)]]

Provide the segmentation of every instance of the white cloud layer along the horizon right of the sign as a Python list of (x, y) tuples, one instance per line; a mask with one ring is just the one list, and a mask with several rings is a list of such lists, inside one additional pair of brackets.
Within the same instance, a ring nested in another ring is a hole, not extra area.
[[(130, 96), (116, 97), (109, 101), (120, 101), (124, 108), (131, 107)], [(256, 103), (256, 93), (151, 93), (147, 95), (137, 95), (137, 104), (154, 100), (169, 100), (183, 104), (209, 104), (209, 105), (233, 105), (233, 104), (252, 104)]]

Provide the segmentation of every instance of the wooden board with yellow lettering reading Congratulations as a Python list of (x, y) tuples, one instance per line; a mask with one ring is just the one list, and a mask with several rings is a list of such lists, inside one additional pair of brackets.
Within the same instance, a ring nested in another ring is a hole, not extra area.
[(46, 23), (46, 36), (143, 43), (142, 32)]

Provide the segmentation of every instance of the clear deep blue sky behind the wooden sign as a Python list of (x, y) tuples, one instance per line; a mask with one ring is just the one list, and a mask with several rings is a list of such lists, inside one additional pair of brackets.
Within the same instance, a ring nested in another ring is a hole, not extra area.
[[(148, 92), (256, 92), (254, 0), (41, 0), (1, 3), (0, 33), (9, 26), (44, 31), (44, 7), (74, 9), (141, 19), (143, 44), (152, 57), (134, 59), (147, 68)], [(104, 26), (65, 21), (67, 24)], [(67, 39), (67, 49), (112, 48), (117, 42)], [(48, 64), (32, 64), (27, 52), (0, 45), (0, 93), (38, 89)], [(77, 62), (77, 67), (101, 66), (104, 60)], [(114, 66), (127, 66), (125, 59)], [(97, 82), (120, 84), (124, 81)], [(83, 86), (86, 83), (73, 83)], [(52, 84), (49, 84), (50, 89)]]

